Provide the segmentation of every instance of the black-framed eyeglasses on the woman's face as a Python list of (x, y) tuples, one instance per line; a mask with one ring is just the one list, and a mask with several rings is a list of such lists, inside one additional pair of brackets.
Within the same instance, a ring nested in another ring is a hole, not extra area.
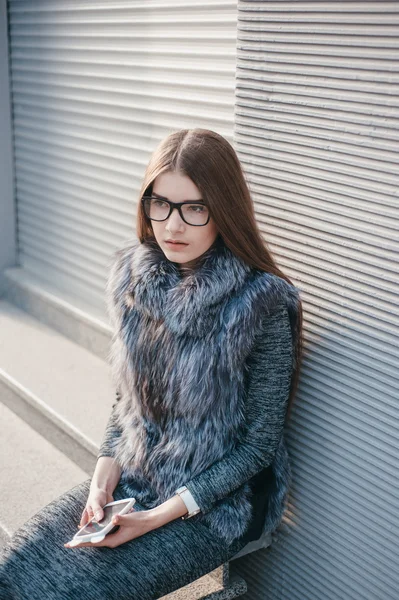
[(171, 202), (166, 198), (157, 196), (143, 196), (141, 199), (144, 213), (152, 221), (166, 221), (172, 214), (172, 210), (177, 208), (183, 221), (187, 225), (194, 227), (203, 227), (209, 222), (209, 208), (203, 202)]

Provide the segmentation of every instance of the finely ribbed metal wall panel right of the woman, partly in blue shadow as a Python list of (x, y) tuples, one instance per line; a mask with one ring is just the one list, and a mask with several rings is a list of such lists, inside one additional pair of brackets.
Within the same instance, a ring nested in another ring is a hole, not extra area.
[(251, 600), (397, 600), (399, 3), (238, 8), (234, 142), (305, 360), (286, 518), (234, 567)]

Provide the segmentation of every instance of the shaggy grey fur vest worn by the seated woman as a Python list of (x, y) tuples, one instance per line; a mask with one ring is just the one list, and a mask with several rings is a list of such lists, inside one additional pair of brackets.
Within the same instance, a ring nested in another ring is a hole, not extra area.
[[(120, 393), (114, 452), (130, 494), (153, 508), (234, 447), (244, 427), (246, 358), (265, 312), (292, 286), (245, 264), (220, 237), (185, 277), (153, 240), (129, 241), (115, 256), (106, 295)], [(278, 525), (290, 483), (284, 437), (272, 467), (264, 532)], [(245, 483), (192, 518), (230, 543), (248, 527), (251, 493)]]

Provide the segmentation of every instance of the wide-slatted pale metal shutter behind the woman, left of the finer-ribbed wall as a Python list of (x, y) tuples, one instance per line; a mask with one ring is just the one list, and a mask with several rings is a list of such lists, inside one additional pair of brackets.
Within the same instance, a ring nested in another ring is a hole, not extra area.
[(184, 127), (232, 141), (236, 25), (232, 0), (9, 2), (23, 267), (104, 310), (157, 143)]

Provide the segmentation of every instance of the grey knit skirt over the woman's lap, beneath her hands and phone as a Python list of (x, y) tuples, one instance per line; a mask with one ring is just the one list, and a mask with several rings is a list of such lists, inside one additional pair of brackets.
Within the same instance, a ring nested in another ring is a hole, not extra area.
[[(194, 516), (117, 548), (64, 548), (77, 531), (90, 482), (50, 502), (14, 533), (0, 555), (1, 600), (152, 600), (216, 569), (245, 545), (242, 538), (228, 545)], [(127, 497), (121, 483), (113, 497)]]

